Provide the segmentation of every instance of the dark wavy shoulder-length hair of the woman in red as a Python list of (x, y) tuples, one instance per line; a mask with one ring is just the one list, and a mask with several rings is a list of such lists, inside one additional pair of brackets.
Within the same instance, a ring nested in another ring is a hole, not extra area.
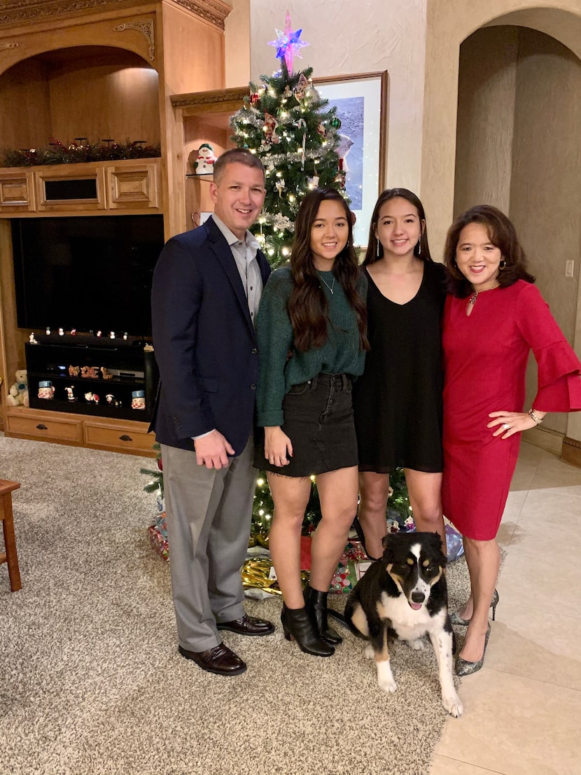
[[(480, 223), (488, 232), (488, 239), (502, 254), (504, 267), (498, 272), (497, 281), (500, 288), (508, 288), (517, 280), (534, 283), (535, 277), (528, 273), (527, 258), (521, 243), (518, 241), (517, 232), (512, 222), (504, 215), (504, 212), (492, 205), (476, 205), (466, 212), (462, 212), (448, 229), (444, 248), (444, 263), (448, 274), (448, 289), (450, 293), (459, 298), (466, 298), (473, 294), (472, 284), (459, 270), (456, 264), (456, 248), (458, 247), (460, 232), (470, 223)], [(501, 262), (502, 263), (502, 262)]]

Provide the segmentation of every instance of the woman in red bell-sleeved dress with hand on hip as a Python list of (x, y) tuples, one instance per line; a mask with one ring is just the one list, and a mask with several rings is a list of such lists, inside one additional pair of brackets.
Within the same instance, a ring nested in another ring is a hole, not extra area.
[[(483, 665), (488, 611), (500, 553), (500, 519), (521, 433), (547, 412), (581, 409), (581, 363), (528, 274), (511, 221), (480, 205), (449, 229), (445, 265), (452, 295), (442, 322), (444, 351), (443, 512), (462, 533), (472, 593), (452, 622), (468, 625), (456, 673)], [(538, 392), (528, 412), (528, 353)]]

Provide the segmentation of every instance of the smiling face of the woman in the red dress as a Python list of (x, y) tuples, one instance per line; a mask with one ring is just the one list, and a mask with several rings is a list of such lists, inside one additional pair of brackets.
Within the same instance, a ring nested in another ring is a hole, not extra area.
[(482, 223), (464, 226), (456, 246), (456, 265), (475, 291), (491, 288), (497, 281), (502, 253), (490, 242)]

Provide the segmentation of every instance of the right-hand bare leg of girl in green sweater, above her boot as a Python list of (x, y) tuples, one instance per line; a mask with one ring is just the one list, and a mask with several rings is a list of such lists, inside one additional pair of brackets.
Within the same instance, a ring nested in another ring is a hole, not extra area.
[(321, 522), (311, 541), (310, 584), (313, 589), (326, 592), (357, 512), (357, 467), (318, 474), (317, 489), (321, 501)]

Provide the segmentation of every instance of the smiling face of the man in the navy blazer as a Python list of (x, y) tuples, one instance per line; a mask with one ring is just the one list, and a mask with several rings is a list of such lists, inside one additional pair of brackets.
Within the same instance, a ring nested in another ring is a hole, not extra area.
[(265, 194), (262, 171), (240, 162), (226, 164), (218, 180), (210, 184), (215, 214), (242, 240), (258, 218)]

